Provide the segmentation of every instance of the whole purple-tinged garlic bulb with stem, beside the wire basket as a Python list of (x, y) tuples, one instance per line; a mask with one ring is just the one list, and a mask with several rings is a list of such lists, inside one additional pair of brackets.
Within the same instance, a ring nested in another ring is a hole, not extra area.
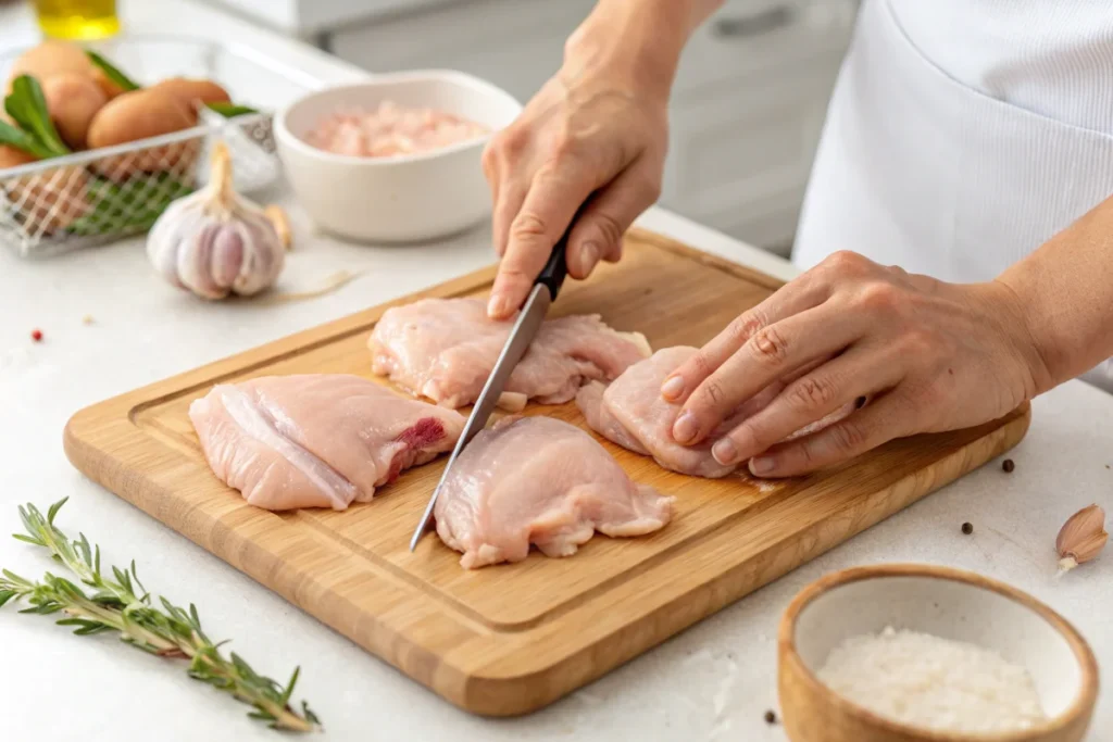
[(170, 204), (147, 236), (147, 257), (168, 281), (206, 299), (252, 296), (282, 273), (286, 248), (274, 222), (232, 187), (232, 158), (213, 151), (208, 186)]

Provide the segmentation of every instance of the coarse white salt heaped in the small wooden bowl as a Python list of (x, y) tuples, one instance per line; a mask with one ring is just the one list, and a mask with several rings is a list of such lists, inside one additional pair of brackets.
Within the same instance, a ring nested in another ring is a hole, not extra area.
[(1025, 667), (974, 644), (892, 626), (846, 640), (817, 674), (858, 705), (922, 729), (1005, 732), (1046, 719)]

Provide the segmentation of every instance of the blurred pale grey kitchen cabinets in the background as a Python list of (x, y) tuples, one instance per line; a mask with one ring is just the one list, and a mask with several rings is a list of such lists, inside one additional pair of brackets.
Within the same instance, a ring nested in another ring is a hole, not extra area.
[[(787, 254), (857, 0), (728, 0), (684, 51), (661, 204)], [(373, 71), (453, 68), (528, 100), (594, 0), (457, 0), (337, 29)]]

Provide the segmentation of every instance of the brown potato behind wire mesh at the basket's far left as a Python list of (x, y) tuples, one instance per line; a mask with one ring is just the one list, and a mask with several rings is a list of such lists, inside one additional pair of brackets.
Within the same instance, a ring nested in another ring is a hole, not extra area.
[(82, 168), (67, 166), (14, 179), (4, 178), (4, 168), (35, 161), (32, 155), (0, 146), (0, 190), (23, 229), (31, 235), (66, 229), (89, 212), (89, 176)]

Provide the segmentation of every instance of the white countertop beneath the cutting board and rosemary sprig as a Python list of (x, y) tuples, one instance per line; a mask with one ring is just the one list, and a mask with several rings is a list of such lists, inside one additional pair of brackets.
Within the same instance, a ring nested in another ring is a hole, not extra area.
[[(235, 40), (323, 82), (361, 72), (188, 0), (134, 1), (137, 31)], [(31, 33), (26, 13), (0, 11), (0, 50)], [(277, 194), (279, 200), (284, 196)], [(83, 531), (106, 561), (135, 557), (156, 593), (196, 602), (208, 633), (257, 670), (303, 674), (328, 740), (777, 740), (762, 720), (776, 708), (776, 630), (792, 595), (821, 574), (871, 562), (932, 562), (1004, 580), (1046, 601), (1083, 632), (1103, 666), (1113, 659), (1113, 555), (1056, 580), (1053, 543), (1063, 520), (1113, 505), (1113, 397), (1074, 382), (1035, 402), (1027, 438), (994, 463), (875, 526), (594, 684), (515, 720), (469, 715), (339, 634), (100, 487), (67, 462), (61, 431), (78, 408), (420, 289), (492, 260), (484, 230), (425, 247), (358, 247), (321, 238), (295, 214), (298, 244), (286, 276), (308, 287), (338, 268), (368, 273), (312, 301), (258, 306), (191, 300), (161, 284), (141, 241), (45, 261), (0, 253), (0, 533), (19, 531), (16, 507), (69, 495), (59, 524)], [(661, 210), (642, 225), (788, 278), (787, 263)], [(95, 323), (82, 324), (83, 315)], [(41, 328), (45, 342), (30, 339)], [(959, 533), (964, 521), (972, 536)], [(0, 565), (37, 577), (50, 563), (0, 538)], [(245, 706), (189, 681), (178, 663), (75, 637), (49, 619), (0, 611), (4, 647), (2, 728), (11, 740), (276, 740)], [(1109, 682), (1105, 687), (1109, 687)], [(65, 710), (63, 715), (59, 713)], [(1113, 734), (1103, 690), (1093, 741)]]

